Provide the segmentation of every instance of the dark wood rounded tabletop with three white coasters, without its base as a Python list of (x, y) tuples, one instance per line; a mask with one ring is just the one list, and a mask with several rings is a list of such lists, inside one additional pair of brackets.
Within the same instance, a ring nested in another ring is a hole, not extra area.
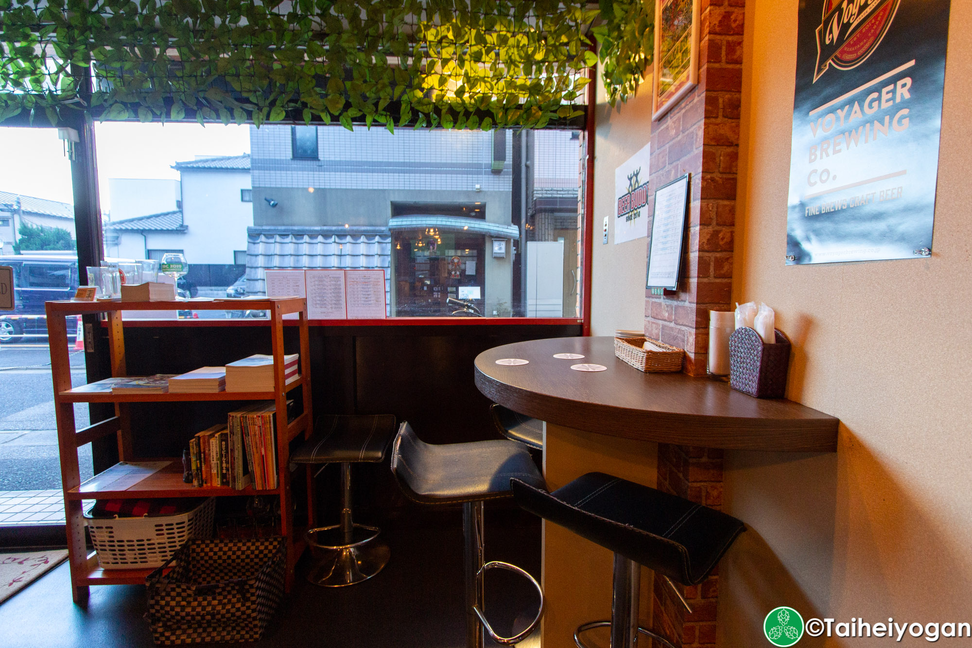
[[(564, 360), (554, 353), (585, 357)], [(530, 364), (496, 364), (501, 358)], [(608, 370), (573, 371), (577, 363)], [(727, 450), (837, 450), (834, 416), (785, 399), (752, 398), (710, 378), (643, 374), (614, 356), (613, 338), (497, 346), (476, 357), (475, 382), (510, 410), (598, 434)]]

